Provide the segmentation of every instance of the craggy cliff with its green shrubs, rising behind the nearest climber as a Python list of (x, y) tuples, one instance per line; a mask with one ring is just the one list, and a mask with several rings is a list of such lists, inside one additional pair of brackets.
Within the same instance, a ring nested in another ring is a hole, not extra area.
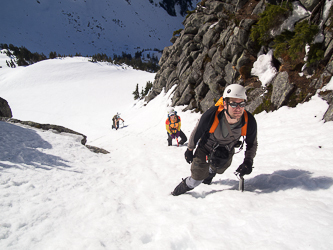
[[(271, 23), (265, 23), (275, 15), (275, 12), (269, 12), (269, 6), (289, 8), (277, 14)], [(184, 20), (184, 29), (174, 32), (173, 45), (164, 49), (159, 62), (161, 68), (145, 100), (150, 101), (163, 89), (168, 91), (175, 86), (172, 106), (185, 105), (185, 110), (202, 112), (212, 106), (224, 88), (232, 83), (246, 87), (249, 99), (246, 108), (252, 113), (271, 111), (284, 105), (294, 107), (309, 100), (329, 82), (333, 73), (330, 7), (323, 0), (202, 1)], [(304, 11), (295, 17), (299, 8)], [(293, 20), (289, 31), (285, 30), (286, 20)], [(305, 28), (298, 25), (300, 31), (295, 31), (294, 27), (301, 22)], [(266, 30), (256, 37), (254, 28), (260, 30), (262, 27)], [(316, 39), (309, 35), (312, 30), (317, 34)], [(293, 36), (291, 40), (283, 40), (288, 35)], [(321, 38), (319, 42), (318, 37)], [(297, 39), (317, 40), (312, 42), (316, 46), (311, 47), (317, 48), (312, 50), (317, 57), (312, 56), (312, 61), (305, 62), (306, 46), (293, 50)], [(270, 51), (273, 52), (270, 63), (276, 68), (276, 74), (263, 84), (253, 75), (253, 64), (260, 55)], [(332, 91), (320, 95), (330, 104), (324, 119), (333, 120)]]

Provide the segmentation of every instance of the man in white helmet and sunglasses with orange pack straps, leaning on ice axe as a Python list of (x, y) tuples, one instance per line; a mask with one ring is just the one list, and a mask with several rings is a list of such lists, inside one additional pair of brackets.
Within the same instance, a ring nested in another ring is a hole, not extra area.
[(185, 152), (185, 159), (191, 164), (191, 175), (180, 182), (172, 195), (184, 194), (201, 183), (210, 185), (216, 174), (223, 174), (230, 167), (235, 148), (242, 149), (244, 142), (244, 160), (236, 172), (240, 176), (252, 172), (257, 152), (257, 123), (245, 110), (246, 101), (245, 88), (231, 84), (215, 106), (202, 114)]

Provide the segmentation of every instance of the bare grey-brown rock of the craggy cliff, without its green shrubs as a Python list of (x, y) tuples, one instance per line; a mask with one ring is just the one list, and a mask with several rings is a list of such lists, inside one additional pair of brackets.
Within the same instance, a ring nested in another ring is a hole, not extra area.
[[(250, 33), (259, 19), (258, 15), (265, 10), (266, 2), (206, 0), (186, 17), (184, 29), (171, 39), (173, 45), (164, 49), (153, 89), (145, 100), (152, 100), (163, 89), (167, 92), (174, 88), (172, 106), (187, 105), (185, 110), (204, 112), (232, 83), (246, 87), (249, 97), (246, 108), (250, 112), (260, 112), (258, 107), (263, 102), (270, 102), (270, 108), (274, 110), (309, 100), (332, 77), (333, 18), (322, 19), (323, 8), (320, 6), (323, 1), (301, 2), (304, 8), (313, 11), (307, 17), (312, 23), (324, 23), (321, 26), (324, 58), (320, 65), (316, 65), (317, 68), (302, 68), (302, 65), (290, 65), (283, 58), (273, 57), (272, 66), (277, 68), (277, 74), (262, 86), (258, 77), (251, 75), (251, 68), (259, 52), (266, 54), (272, 47), (260, 48), (250, 39)], [(280, 4), (281, 1), (269, 3)], [(274, 30), (279, 30), (279, 27)], [(267, 88), (271, 90), (269, 95), (265, 95)], [(329, 102), (329, 105), (332, 110), (333, 104)], [(331, 112), (325, 120), (332, 120)]]

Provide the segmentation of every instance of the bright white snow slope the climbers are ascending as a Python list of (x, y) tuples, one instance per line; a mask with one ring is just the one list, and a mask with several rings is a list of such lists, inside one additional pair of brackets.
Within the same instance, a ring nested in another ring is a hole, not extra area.
[[(331, 249), (325, 101), (315, 95), (255, 115), (259, 146), (244, 192), (234, 174), (241, 151), (211, 185), (174, 197), (190, 165), (186, 145), (167, 146), (173, 89), (149, 103), (132, 95), (154, 77), (85, 57), (0, 69), (13, 118), (65, 126), (110, 152), (91, 152), (77, 135), (0, 122), (0, 249)], [(183, 108), (176, 110), (189, 137), (200, 114)], [(117, 112), (125, 122), (112, 130)]]

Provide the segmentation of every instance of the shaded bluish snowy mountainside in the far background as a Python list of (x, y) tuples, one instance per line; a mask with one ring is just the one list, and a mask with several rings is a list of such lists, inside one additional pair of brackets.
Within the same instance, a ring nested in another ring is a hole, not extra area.
[[(199, 1), (192, 1), (195, 8)], [(158, 0), (3, 1), (0, 43), (31, 52), (108, 56), (163, 50), (185, 17), (170, 16)]]

